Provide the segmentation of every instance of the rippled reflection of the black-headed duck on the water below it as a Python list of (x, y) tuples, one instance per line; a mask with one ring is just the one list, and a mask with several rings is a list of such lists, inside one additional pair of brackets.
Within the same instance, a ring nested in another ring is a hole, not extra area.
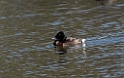
[[(70, 50), (71, 49), (71, 50)], [(71, 53), (71, 55), (79, 54), (79, 57), (85, 57), (86, 58), (86, 44), (82, 43), (82, 45), (75, 45), (71, 47), (63, 47), (63, 46), (56, 46), (55, 47), (55, 54), (58, 58), (58, 63), (66, 63), (68, 54)]]

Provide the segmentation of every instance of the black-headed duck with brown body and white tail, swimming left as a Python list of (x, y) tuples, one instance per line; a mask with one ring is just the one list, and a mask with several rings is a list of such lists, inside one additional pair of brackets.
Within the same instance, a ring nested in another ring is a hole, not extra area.
[(55, 35), (53, 45), (54, 46), (70, 46), (70, 45), (77, 45), (85, 42), (85, 39), (78, 39), (74, 37), (66, 37), (63, 31), (58, 31)]

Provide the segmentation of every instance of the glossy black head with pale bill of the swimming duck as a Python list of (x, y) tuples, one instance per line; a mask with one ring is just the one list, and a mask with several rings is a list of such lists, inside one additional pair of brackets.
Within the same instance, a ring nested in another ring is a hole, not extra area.
[(55, 35), (55, 38), (52, 38), (52, 39), (57, 40), (57, 41), (60, 41), (60, 42), (63, 43), (64, 41), (66, 41), (66, 38), (67, 37), (65, 36), (64, 32), (63, 31), (59, 31)]

